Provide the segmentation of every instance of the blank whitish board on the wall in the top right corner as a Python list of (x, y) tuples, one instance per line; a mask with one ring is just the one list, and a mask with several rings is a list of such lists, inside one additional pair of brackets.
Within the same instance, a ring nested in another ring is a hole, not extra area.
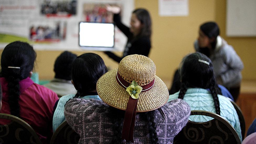
[(256, 36), (256, 1), (227, 0), (226, 35)]

